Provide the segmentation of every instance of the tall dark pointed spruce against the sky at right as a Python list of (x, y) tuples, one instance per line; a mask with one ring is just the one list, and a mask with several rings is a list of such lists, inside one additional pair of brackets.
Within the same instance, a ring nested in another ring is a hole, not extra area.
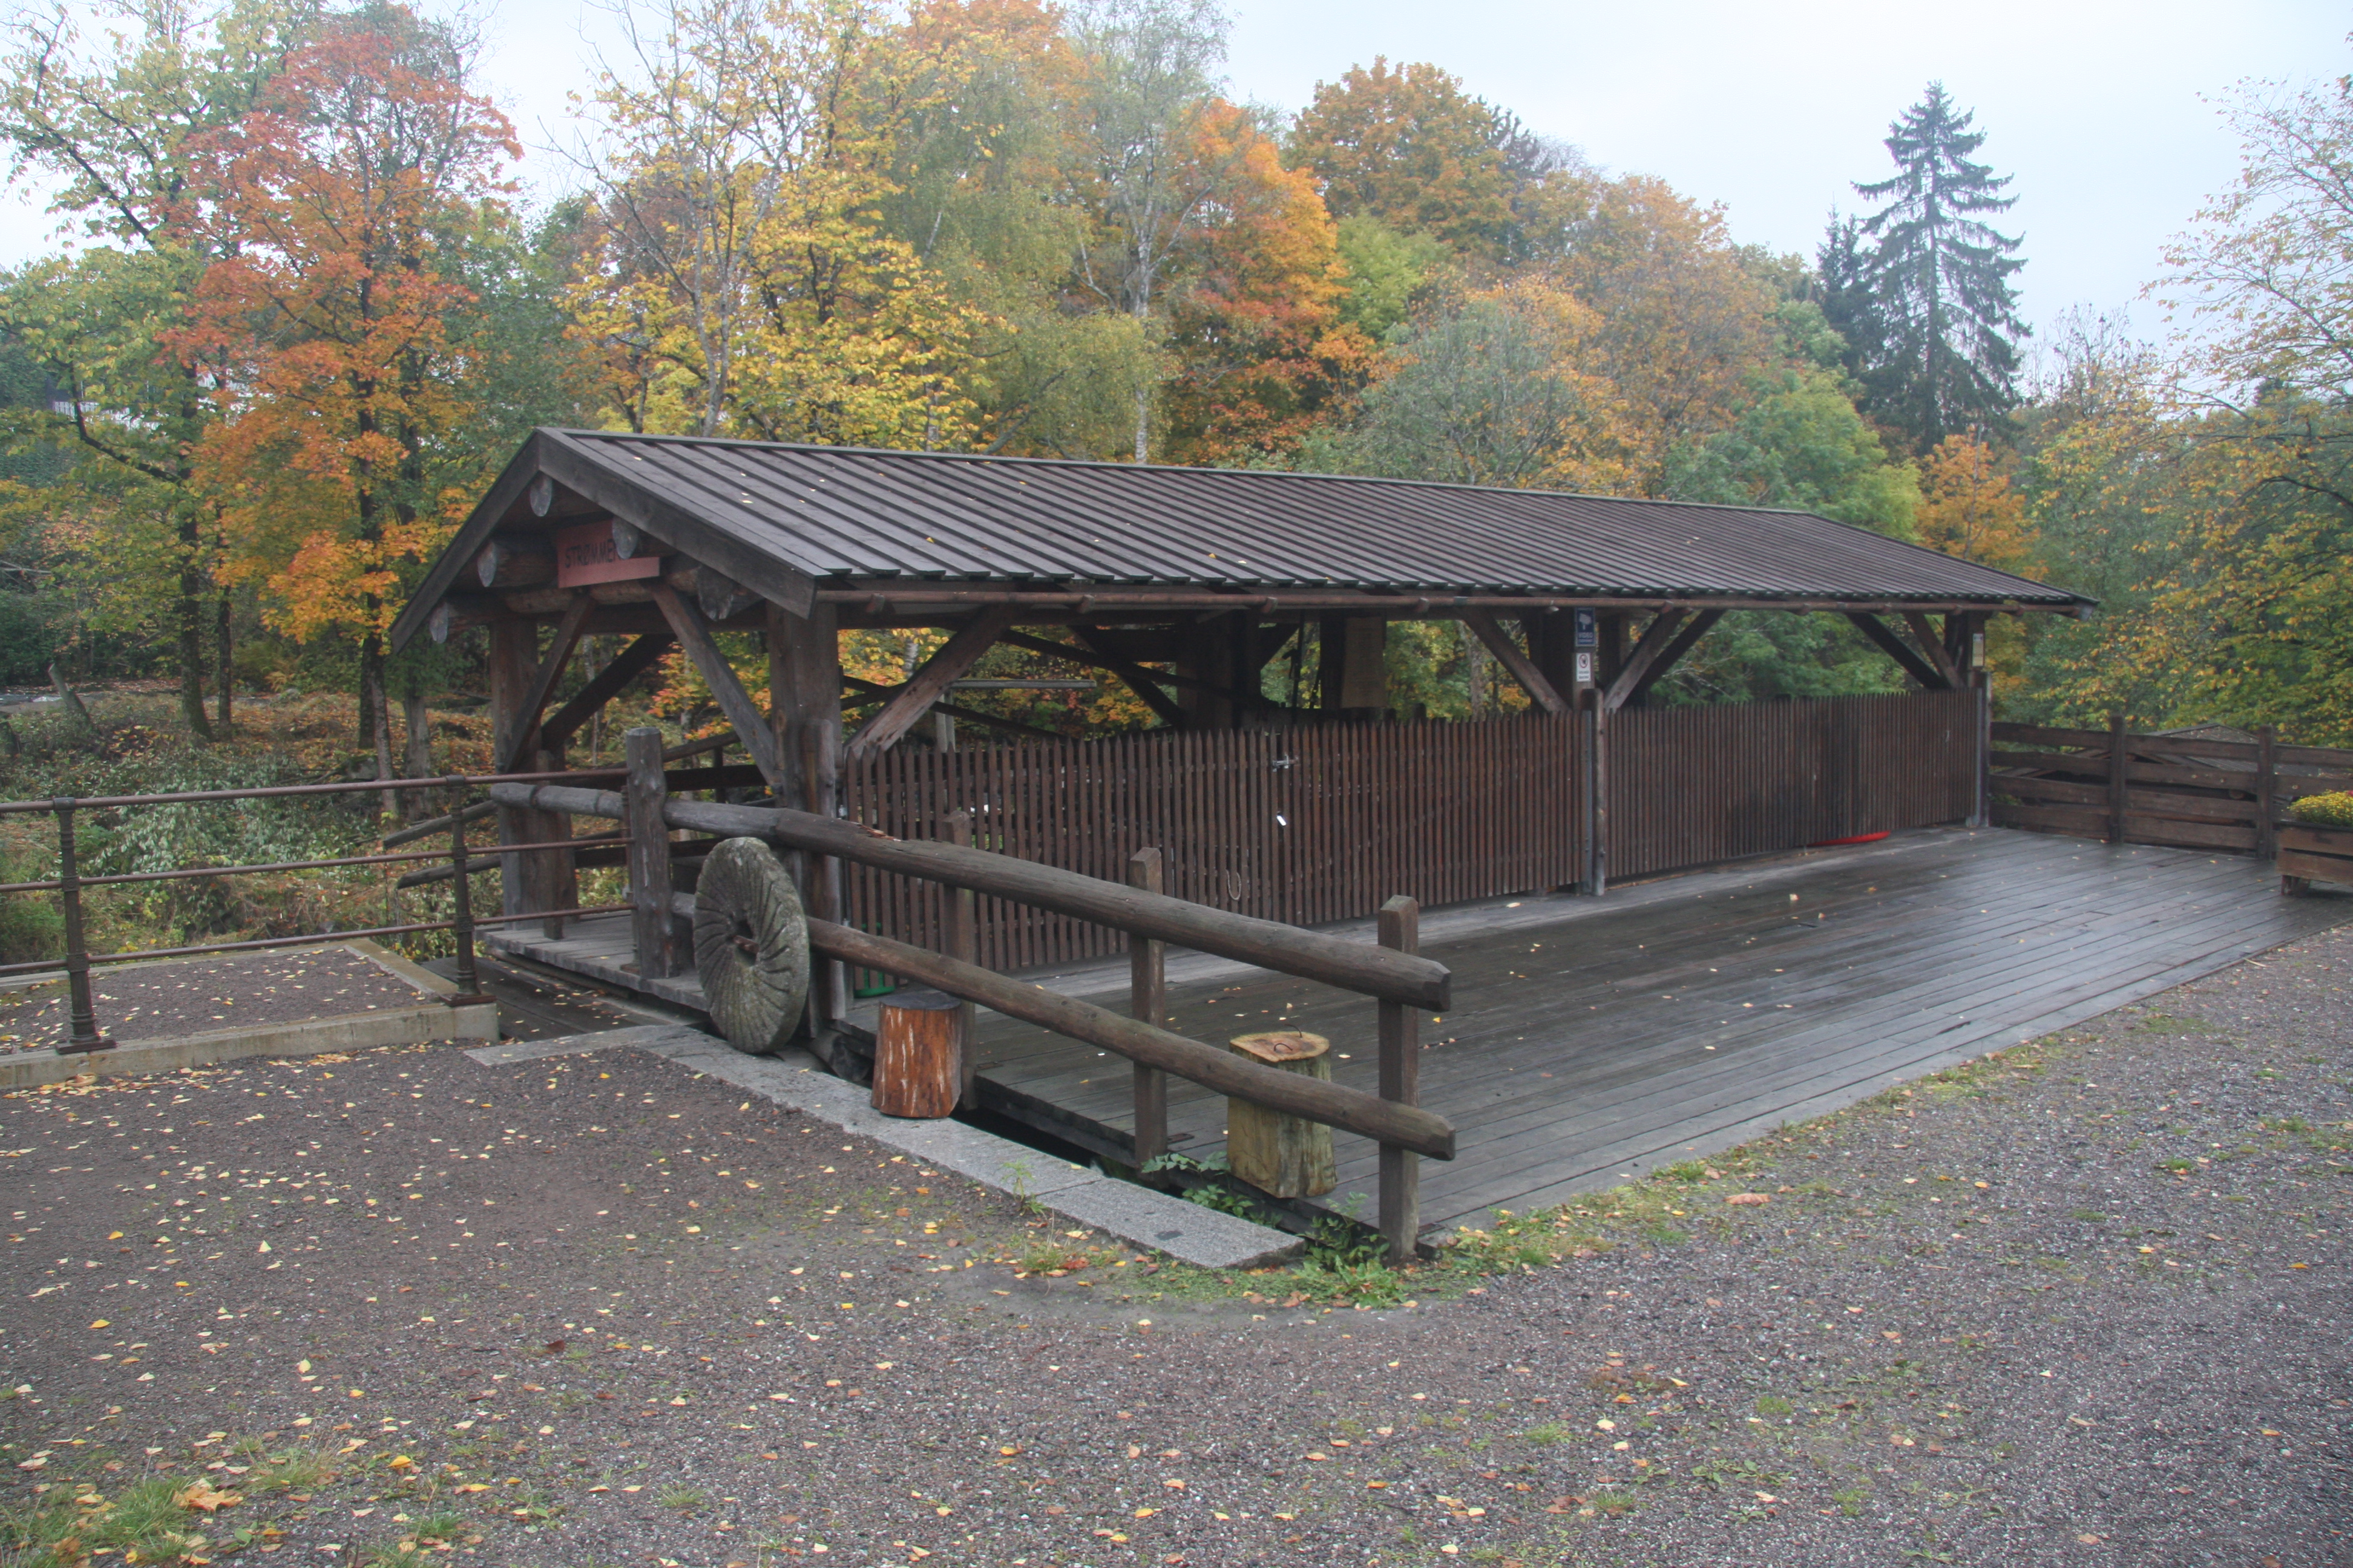
[(2002, 195), (2012, 176), (1969, 160), (1986, 141), (1969, 129), (1974, 118), (1953, 108), (1944, 82), (1929, 82), (1927, 96), (1889, 127), (1894, 179), (1854, 186), (1885, 205), (1847, 237), (1847, 256), (1838, 256), (1835, 219), (1824, 247), (1826, 261), (1859, 263), (1857, 277), (1826, 284), (1847, 282), (1861, 294), (1849, 346), (1866, 407), (1920, 451), (1972, 425), (1993, 433), (2019, 402), (2017, 339), (2028, 329), (2009, 280), (2026, 263), (2017, 259), (2019, 240), (1986, 221), (2017, 197)]

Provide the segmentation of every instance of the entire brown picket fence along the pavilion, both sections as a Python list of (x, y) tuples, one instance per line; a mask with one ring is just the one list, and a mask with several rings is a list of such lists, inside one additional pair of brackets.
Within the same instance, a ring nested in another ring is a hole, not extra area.
[[(1607, 717), (1607, 875), (1713, 865), (1979, 811), (1979, 698), (1915, 691)], [(929, 839), (951, 811), (974, 844), (1089, 877), (1162, 851), (1167, 891), (1297, 926), (1595, 877), (1593, 715), (1468, 724), (1153, 731), (958, 752), (896, 748), (842, 769), (847, 813)], [(852, 924), (936, 945), (939, 891), (845, 867)], [(1028, 905), (981, 905), (981, 964), (1111, 957), (1120, 936)]]

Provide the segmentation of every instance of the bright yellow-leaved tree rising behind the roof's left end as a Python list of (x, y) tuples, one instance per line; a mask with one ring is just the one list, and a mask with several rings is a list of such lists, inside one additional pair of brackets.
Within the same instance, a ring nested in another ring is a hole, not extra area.
[(598, 87), (574, 294), (640, 428), (962, 447), (979, 313), (882, 205), (904, 33), (868, 0), (680, 0)]

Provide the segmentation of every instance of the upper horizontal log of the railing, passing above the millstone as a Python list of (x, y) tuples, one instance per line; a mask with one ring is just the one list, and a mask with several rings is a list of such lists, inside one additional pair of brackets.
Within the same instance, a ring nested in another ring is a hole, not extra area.
[[(539, 811), (574, 811), (579, 816), (621, 818), (619, 790), (579, 790), (569, 785), (492, 785), (492, 799)], [(816, 856), (840, 856), (920, 882), (969, 886), (993, 898), (1012, 898), (1073, 919), (1127, 931), (1195, 952), (1214, 952), (1261, 969), (1275, 969), (1341, 990), (1445, 1011), (1454, 994), (1454, 976), (1433, 959), (1391, 952), (1369, 943), (1348, 943), (1322, 931), (1301, 931), (1273, 919), (1212, 910), (1165, 893), (1066, 872), (1035, 860), (998, 856), (986, 849), (939, 844), (932, 839), (894, 839), (859, 823), (845, 823), (809, 811), (772, 806), (720, 806), (673, 799), (664, 806), (671, 827), (692, 827), (722, 837), (755, 837), (802, 849)]]

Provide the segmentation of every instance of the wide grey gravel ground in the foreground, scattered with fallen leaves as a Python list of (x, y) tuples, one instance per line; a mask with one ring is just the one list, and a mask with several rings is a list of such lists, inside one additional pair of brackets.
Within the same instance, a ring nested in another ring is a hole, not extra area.
[(28, 1091), (0, 1488), (139, 1561), (2353, 1563), (2348, 1124), (2337, 931), (1334, 1309), (633, 1053)]

